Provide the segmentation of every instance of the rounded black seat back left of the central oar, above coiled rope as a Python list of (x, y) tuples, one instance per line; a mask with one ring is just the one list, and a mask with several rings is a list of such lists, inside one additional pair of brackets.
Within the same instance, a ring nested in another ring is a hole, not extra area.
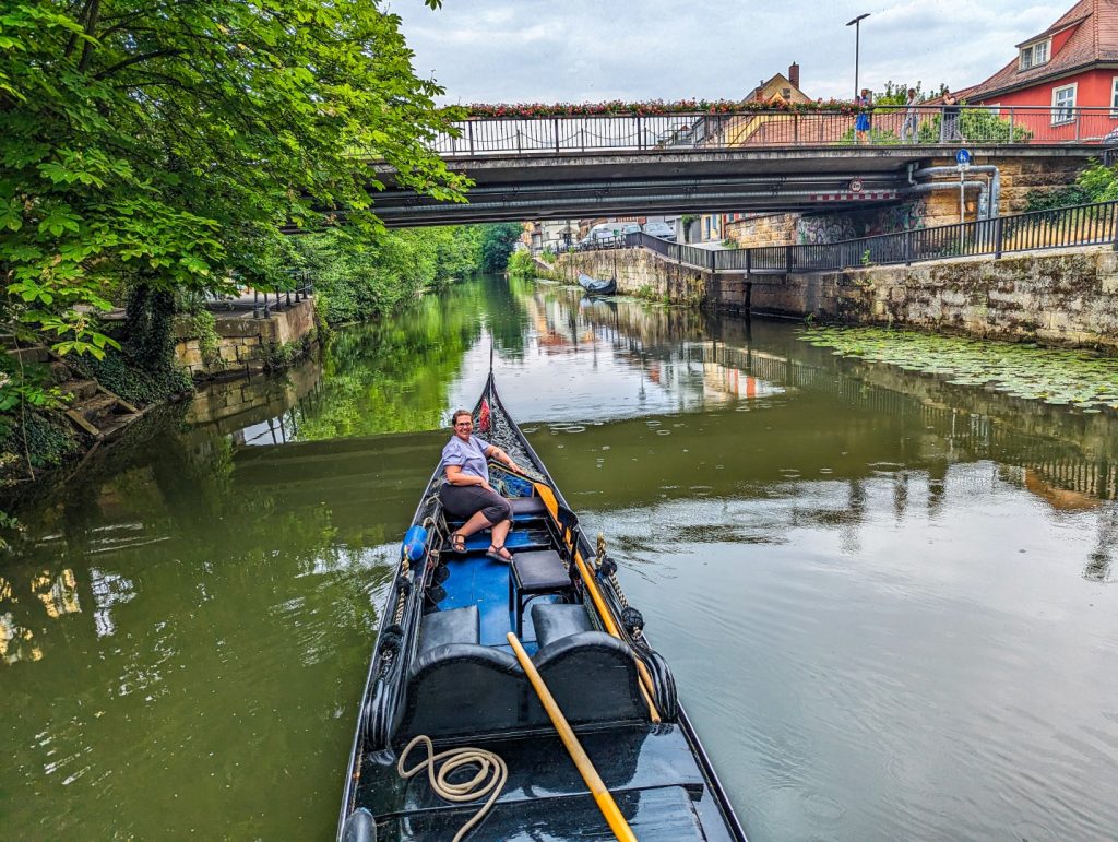
[(398, 717), (397, 746), (418, 734), (437, 739), (547, 722), (517, 659), (471, 643), (447, 643), (418, 655)]

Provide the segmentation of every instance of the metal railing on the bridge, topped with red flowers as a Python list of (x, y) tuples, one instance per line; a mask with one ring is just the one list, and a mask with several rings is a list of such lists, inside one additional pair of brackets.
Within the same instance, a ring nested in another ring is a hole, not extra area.
[[(859, 113), (764, 111), (471, 117), (434, 139), (445, 157), (769, 146), (1118, 144), (1118, 111), (1041, 106), (874, 106)], [(1111, 136), (1112, 135), (1112, 136)]]

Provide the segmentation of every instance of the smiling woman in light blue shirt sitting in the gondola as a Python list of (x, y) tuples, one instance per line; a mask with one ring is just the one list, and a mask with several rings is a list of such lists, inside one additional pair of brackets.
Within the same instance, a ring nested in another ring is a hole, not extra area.
[(492, 527), (493, 542), (485, 555), (494, 561), (511, 561), (512, 554), (504, 541), (512, 528), (512, 504), (489, 484), (489, 460), (502, 462), (513, 471), (520, 469), (508, 453), (473, 435), (474, 419), (468, 410), (455, 411), (452, 424), (454, 436), (443, 448), (446, 482), (438, 496), (447, 514), (466, 522), (451, 534), (451, 548), (465, 552), (466, 538)]

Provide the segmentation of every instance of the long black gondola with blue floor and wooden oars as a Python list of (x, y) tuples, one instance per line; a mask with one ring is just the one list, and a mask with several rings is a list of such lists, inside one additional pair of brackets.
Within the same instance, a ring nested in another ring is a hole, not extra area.
[(381, 613), (339, 841), (743, 842), (604, 539), (584, 533), (492, 372), (474, 422), (523, 469), (490, 464), (513, 560), (486, 558), (487, 530), (452, 551), (436, 469)]

